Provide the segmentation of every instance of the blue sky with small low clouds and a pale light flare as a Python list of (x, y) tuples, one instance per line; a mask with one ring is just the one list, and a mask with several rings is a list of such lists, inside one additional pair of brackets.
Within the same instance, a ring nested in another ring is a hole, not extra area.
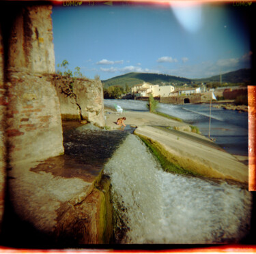
[(73, 72), (78, 66), (101, 80), (129, 72), (207, 78), (251, 67), (248, 20), (239, 6), (63, 4), (52, 14), (56, 70), (64, 59)]

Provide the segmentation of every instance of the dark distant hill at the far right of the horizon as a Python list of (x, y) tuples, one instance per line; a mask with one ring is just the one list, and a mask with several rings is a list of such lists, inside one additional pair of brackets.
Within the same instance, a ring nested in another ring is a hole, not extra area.
[[(251, 81), (251, 69), (238, 69), (234, 72), (227, 72), (221, 75), (222, 82), (228, 83), (243, 83)], [(193, 81), (201, 81), (201, 82), (219, 82), (220, 75), (212, 76), (210, 78), (199, 78), (194, 79)]]

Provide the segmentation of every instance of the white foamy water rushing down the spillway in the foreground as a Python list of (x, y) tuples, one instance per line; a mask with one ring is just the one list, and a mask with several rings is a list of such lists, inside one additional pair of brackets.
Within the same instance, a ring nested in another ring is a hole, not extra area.
[(126, 138), (104, 172), (119, 214), (117, 242), (237, 242), (248, 233), (251, 193), (225, 181), (163, 172), (137, 136)]

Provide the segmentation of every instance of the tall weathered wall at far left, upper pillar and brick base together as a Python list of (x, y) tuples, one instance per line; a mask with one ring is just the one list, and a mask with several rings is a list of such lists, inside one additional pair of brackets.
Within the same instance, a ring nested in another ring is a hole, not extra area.
[(55, 72), (51, 8), (0, 3), (0, 227), (6, 168), (63, 153), (59, 99), (42, 76)]

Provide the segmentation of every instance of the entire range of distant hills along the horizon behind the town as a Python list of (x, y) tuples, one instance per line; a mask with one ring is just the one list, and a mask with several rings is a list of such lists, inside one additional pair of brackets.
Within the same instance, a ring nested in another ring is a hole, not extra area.
[[(135, 84), (143, 84), (143, 82), (149, 82), (151, 84), (160, 84), (165, 82), (167, 84), (175, 83), (178, 86), (184, 83), (190, 84), (190, 82), (219, 82), (220, 76), (212, 76), (210, 78), (181, 78), (177, 76), (170, 76), (165, 74), (149, 74), (141, 72), (130, 72), (121, 76), (116, 76), (108, 80), (102, 80), (104, 88), (109, 86), (122, 86), (125, 88), (126, 84), (129, 87), (134, 86)], [(251, 69), (238, 69), (234, 72), (227, 72), (222, 74), (222, 82), (228, 83), (242, 83), (251, 81)]]

